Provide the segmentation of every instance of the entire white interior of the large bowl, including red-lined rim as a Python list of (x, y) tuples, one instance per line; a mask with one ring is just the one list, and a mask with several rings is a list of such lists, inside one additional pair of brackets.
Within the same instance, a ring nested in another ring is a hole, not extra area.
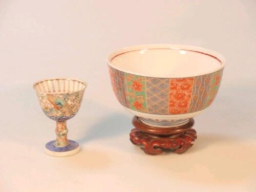
[(114, 52), (112, 67), (127, 73), (151, 77), (191, 77), (224, 67), (218, 53), (192, 46), (138, 46)]

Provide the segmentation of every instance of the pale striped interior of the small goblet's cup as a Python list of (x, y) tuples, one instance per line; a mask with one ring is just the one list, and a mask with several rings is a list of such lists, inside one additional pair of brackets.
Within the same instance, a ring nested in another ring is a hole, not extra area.
[(40, 93), (61, 94), (73, 93), (85, 89), (86, 82), (76, 79), (55, 78), (38, 81), (34, 89)]

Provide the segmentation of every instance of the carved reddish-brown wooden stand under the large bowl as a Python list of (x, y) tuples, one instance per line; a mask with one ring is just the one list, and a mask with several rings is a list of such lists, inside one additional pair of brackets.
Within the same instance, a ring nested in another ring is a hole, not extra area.
[(181, 126), (161, 128), (146, 125), (140, 118), (134, 116), (133, 125), (135, 126), (130, 133), (130, 140), (135, 145), (143, 145), (141, 149), (148, 155), (158, 155), (164, 150), (174, 150), (177, 154), (186, 152), (197, 139), (197, 132), (191, 129), (194, 119)]

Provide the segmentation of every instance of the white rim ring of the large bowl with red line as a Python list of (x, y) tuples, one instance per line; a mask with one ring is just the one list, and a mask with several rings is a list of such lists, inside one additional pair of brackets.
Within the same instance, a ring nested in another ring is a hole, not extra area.
[[(127, 70), (122, 70), (121, 68), (118, 68), (116, 66), (112, 65), (112, 60), (122, 54), (132, 52), (132, 51), (140, 51), (143, 49), (173, 49), (173, 50), (184, 50), (184, 51), (193, 51), (197, 53), (201, 53), (210, 57), (213, 57), (217, 59), (220, 62), (220, 67), (218, 67), (215, 70), (208, 71), (207, 73), (200, 73), (200, 74), (195, 74), (195, 75), (189, 75), (189, 76), (182, 76), (182, 75), (147, 75), (147, 74), (142, 74), (142, 73), (134, 73), (132, 71), (127, 71)], [(178, 45), (178, 44), (145, 44), (145, 45), (137, 45), (137, 46), (129, 46), (129, 47), (124, 47), (121, 49), (117, 49), (113, 52), (111, 52), (107, 58), (106, 61), (108, 62), (108, 65), (116, 70), (122, 71), (124, 73), (129, 73), (129, 74), (134, 74), (134, 75), (139, 75), (139, 76), (145, 76), (145, 77), (155, 77), (155, 78), (188, 78), (188, 77), (197, 77), (197, 76), (202, 76), (202, 75), (208, 75), (217, 71), (220, 71), (225, 67), (226, 64), (226, 59), (225, 57), (220, 54), (219, 52), (216, 52), (211, 49), (206, 49), (202, 47), (196, 47), (196, 46), (189, 46), (189, 45)]]

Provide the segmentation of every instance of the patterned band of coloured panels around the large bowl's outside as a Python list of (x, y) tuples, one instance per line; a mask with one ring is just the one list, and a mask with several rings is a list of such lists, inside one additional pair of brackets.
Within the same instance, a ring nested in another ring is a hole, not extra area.
[(125, 73), (109, 66), (118, 101), (134, 111), (178, 115), (201, 111), (215, 99), (223, 69), (196, 77), (156, 78)]

